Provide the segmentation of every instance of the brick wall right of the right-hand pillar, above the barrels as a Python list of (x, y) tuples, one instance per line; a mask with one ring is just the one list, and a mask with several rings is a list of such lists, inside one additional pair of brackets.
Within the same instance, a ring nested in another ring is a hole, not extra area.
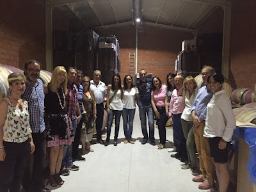
[(232, 1), (230, 72), (232, 88), (256, 83), (256, 1)]

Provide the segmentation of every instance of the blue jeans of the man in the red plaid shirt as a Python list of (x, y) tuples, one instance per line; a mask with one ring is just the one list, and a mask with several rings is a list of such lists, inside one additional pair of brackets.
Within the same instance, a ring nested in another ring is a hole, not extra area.
[[(77, 118), (72, 120), (72, 127), (73, 127), (73, 132), (74, 136), (76, 135), (76, 127), (77, 127)], [(72, 159), (72, 143), (70, 145), (65, 145), (63, 147), (63, 159), (61, 163), (61, 170), (65, 167), (70, 166), (73, 164), (73, 159)]]

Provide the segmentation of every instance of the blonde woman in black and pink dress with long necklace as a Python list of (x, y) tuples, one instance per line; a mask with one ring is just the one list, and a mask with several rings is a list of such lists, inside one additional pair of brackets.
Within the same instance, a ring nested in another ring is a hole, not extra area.
[(44, 85), (45, 93), (45, 128), (49, 135), (46, 138), (46, 147), (50, 148), (50, 175), (52, 187), (63, 185), (60, 177), (61, 161), (64, 145), (74, 141), (72, 122), (66, 109), (67, 71), (58, 66), (52, 71), (51, 82)]

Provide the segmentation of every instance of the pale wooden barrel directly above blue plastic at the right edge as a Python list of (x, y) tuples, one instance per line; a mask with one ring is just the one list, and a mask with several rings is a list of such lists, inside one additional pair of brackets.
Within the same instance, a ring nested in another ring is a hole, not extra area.
[(256, 109), (255, 108), (235, 108), (233, 112), (236, 116), (236, 120), (241, 122), (250, 122), (256, 124)]

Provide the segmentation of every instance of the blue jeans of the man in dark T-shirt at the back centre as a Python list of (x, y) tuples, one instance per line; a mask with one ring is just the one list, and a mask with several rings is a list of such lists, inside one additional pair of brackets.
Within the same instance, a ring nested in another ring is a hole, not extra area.
[(154, 135), (155, 127), (154, 127), (154, 116), (153, 116), (152, 105), (143, 106), (142, 104), (139, 103), (139, 111), (140, 111), (140, 124), (141, 124), (143, 139), (148, 140), (148, 132), (147, 132), (147, 116), (148, 116), (149, 140), (153, 142), (155, 141), (155, 135)]

